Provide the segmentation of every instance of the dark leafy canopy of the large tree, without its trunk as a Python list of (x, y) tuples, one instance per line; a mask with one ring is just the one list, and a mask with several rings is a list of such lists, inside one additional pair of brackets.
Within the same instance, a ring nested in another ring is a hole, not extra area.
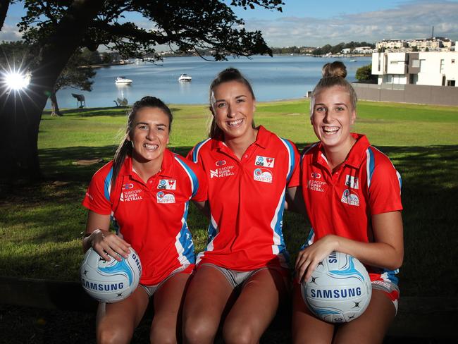
[[(25, 0), (27, 13), (19, 27), (26, 42), (43, 42), (56, 35), (59, 21), (68, 15), (73, 2)], [(261, 6), (278, 11), (282, 4), (279, 0), (231, 3), (243, 8)], [(128, 13), (140, 14), (149, 23), (142, 27), (128, 21)], [(95, 51), (104, 45), (123, 57), (136, 58), (154, 56), (158, 44), (167, 44), (179, 52), (211, 49), (215, 60), (223, 60), (228, 54), (271, 54), (261, 32), (249, 32), (244, 24), (222, 1), (106, 0), (97, 17), (90, 21), (80, 46)]]

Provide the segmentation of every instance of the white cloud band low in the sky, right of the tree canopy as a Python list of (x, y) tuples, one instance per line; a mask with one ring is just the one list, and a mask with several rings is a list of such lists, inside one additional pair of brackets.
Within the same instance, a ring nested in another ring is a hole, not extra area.
[(261, 30), (272, 47), (320, 46), (349, 41), (436, 37), (458, 39), (458, 3), (408, 1), (383, 11), (342, 14), (328, 19), (283, 17), (246, 19), (247, 30)]

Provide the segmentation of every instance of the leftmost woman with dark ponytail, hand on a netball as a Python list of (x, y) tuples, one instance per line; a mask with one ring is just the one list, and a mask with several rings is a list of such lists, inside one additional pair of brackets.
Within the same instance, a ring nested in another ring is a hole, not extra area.
[[(190, 199), (203, 202), (202, 169), (166, 146), (172, 113), (155, 97), (132, 106), (113, 161), (91, 180), (82, 204), (89, 209), (85, 251), (106, 260), (140, 256), (142, 276), (125, 300), (100, 303), (97, 342), (129, 343), (152, 298), (151, 343), (177, 343), (185, 289), (194, 269), (194, 246), (186, 224)], [(116, 233), (109, 231), (110, 220)]]

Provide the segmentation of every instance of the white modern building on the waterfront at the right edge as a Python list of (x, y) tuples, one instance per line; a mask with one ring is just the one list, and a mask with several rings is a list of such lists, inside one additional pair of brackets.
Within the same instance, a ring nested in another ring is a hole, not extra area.
[(458, 87), (458, 51), (373, 53), (372, 74), (379, 85)]

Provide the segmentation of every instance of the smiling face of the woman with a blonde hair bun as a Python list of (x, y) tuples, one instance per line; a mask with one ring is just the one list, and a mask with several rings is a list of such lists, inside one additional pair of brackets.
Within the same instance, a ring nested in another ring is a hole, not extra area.
[(315, 135), (324, 147), (349, 150), (352, 147), (350, 126), (355, 118), (356, 111), (353, 109), (349, 93), (344, 88), (325, 87), (316, 94), (311, 125), (314, 126)]

